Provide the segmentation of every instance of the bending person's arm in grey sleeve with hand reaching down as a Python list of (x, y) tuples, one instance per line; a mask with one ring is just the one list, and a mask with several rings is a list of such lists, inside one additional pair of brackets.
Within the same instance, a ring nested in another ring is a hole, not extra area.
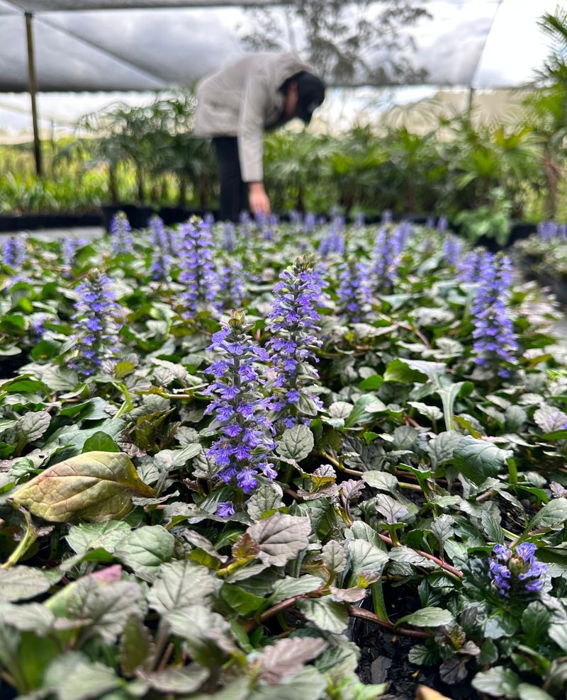
[(270, 213), (270, 201), (264, 189), (264, 113), (269, 91), (257, 75), (245, 89), (238, 125), (238, 157), (242, 181), (249, 188), (252, 213)]

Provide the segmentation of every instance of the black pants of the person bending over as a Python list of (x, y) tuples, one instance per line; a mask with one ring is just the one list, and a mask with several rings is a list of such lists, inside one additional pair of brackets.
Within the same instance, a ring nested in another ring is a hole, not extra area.
[(213, 144), (220, 179), (220, 219), (237, 222), (240, 212), (248, 209), (248, 188), (240, 174), (237, 137), (217, 136)]

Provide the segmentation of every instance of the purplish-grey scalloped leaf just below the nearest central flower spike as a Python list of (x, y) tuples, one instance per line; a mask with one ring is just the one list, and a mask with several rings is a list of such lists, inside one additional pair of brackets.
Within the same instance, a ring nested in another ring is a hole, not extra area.
[(260, 560), (283, 566), (308, 546), (311, 524), (308, 518), (277, 512), (250, 526), (247, 532), (259, 544)]

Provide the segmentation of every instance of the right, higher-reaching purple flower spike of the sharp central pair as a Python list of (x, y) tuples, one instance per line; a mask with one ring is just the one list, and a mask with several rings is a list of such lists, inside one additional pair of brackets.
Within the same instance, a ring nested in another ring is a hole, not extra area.
[(302, 396), (308, 400), (310, 415), (322, 406), (306, 386), (319, 379), (310, 363), (318, 361), (315, 356), (315, 349), (321, 346), (316, 336), (320, 330), (318, 308), (325, 303), (326, 283), (320, 269), (306, 256), (297, 258), (279, 278), (267, 325), (272, 334), (267, 347), (274, 365), (271, 407), (278, 418), (287, 419), (286, 427), (290, 427), (301, 414)]

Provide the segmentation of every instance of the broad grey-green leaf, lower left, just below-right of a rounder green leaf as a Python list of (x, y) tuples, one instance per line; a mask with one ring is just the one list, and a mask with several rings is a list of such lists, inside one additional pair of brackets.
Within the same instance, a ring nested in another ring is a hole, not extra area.
[(206, 567), (189, 561), (173, 561), (159, 568), (147, 602), (163, 615), (204, 602), (217, 587)]

